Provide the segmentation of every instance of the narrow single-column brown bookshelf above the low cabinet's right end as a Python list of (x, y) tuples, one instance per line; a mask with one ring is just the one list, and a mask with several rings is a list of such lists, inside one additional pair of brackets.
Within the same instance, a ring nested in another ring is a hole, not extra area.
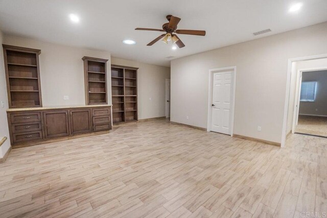
[(107, 59), (83, 57), (85, 103), (107, 104)]

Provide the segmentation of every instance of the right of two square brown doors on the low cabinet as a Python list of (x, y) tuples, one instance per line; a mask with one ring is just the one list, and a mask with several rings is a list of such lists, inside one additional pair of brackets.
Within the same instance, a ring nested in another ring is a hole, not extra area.
[(72, 135), (91, 132), (91, 110), (71, 110)]

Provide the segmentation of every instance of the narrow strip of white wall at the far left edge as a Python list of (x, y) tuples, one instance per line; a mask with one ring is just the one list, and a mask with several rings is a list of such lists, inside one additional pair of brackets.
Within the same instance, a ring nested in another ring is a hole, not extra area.
[[(3, 34), (0, 31), (0, 43), (3, 42)], [(4, 65), (4, 52), (2, 45), (0, 45), (0, 102), (5, 102), (5, 107), (0, 105), (0, 140), (7, 136), (7, 140), (0, 147), (0, 158), (3, 158), (10, 148), (10, 139), (9, 139), (9, 130), (7, 122), (7, 112), (8, 109), (8, 96), (7, 96), (7, 85), (6, 85), (6, 74), (5, 74), (5, 65)]]

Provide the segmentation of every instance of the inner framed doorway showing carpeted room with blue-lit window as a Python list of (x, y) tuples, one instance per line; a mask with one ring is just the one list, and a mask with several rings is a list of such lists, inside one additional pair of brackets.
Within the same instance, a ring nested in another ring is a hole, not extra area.
[(327, 68), (299, 69), (292, 133), (327, 137)]

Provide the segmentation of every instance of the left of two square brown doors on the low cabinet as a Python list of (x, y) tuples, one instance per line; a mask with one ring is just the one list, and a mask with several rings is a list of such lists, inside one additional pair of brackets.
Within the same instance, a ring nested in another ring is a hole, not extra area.
[(45, 138), (69, 135), (68, 110), (43, 112)]

